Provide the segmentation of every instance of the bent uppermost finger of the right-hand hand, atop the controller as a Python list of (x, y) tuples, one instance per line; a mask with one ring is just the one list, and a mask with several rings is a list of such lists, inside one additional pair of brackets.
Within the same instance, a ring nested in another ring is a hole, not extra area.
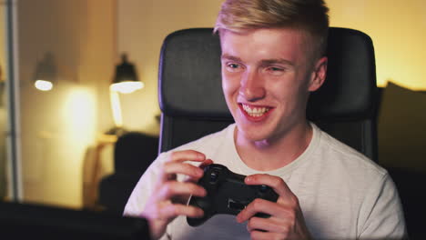
[(281, 177), (276, 175), (249, 175), (245, 178), (246, 185), (269, 185), (279, 196), (293, 198), (294, 194)]

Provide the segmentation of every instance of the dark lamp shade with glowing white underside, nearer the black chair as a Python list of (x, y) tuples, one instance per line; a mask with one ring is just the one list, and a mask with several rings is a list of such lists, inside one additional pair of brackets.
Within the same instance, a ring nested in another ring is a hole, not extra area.
[(111, 90), (128, 94), (144, 87), (144, 83), (138, 80), (135, 65), (127, 61), (127, 55), (122, 55), (122, 63), (116, 66), (116, 75), (113, 79)]

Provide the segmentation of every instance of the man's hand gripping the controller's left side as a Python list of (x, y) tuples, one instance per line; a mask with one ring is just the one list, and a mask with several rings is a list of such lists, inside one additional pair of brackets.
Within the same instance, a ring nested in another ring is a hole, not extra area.
[[(200, 162), (195, 166), (187, 161)], [(203, 210), (187, 205), (190, 195), (205, 196), (206, 190), (195, 182), (204, 174), (201, 169), (212, 161), (193, 150), (174, 152), (162, 165), (158, 175), (156, 189), (147, 201), (142, 216), (147, 218), (152, 239), (158, 239), (166, 232), (167, 225), (178, 215), (201, 217)], [(179, 182), (177, 174), (187, 175), (188, 179)]]

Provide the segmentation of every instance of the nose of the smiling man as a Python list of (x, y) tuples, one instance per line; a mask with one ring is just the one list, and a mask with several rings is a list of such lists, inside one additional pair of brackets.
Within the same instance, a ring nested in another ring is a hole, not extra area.
[(238, 94), (249, 102), (255, 102), (265, 97), (263, 79), (257, 71), (247, 71), (242, 75)]

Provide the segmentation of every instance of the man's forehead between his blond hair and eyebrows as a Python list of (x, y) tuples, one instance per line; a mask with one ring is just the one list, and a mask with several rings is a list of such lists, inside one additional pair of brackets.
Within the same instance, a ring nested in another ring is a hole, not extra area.
[(222, 56), (238, 57), (244, 61), (285, 59), (297, 62), (305, 59), (306, 35), (289, 28), (260, 28), (235, 33), (220, 32)]

